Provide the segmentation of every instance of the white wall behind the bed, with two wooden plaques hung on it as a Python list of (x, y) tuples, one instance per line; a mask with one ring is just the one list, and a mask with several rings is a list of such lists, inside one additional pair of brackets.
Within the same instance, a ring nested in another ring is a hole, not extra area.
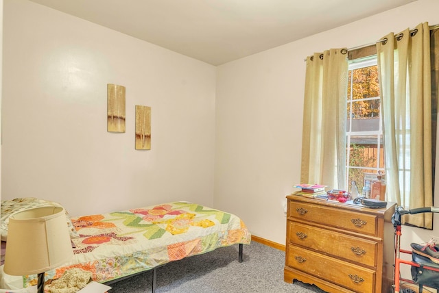
[[(3, 21), (2, 199), (213, 204), (215, 66), (26, 0)], [(126, 86), (126, 133), (106, 131), (107, 84)], [(150, 151), (134, 150), (134, 105), (152, 107)]]

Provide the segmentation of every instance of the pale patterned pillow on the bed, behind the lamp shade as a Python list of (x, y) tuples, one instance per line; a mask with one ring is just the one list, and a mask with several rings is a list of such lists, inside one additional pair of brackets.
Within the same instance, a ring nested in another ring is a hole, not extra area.
[[(16, 212), (23, 211), (25, 209), (31, 209), (34, 207), (62, 207), (59, 203), (54, 201), (46, 201), (44, 199), (36, 199), (35, 197), (25, 197), (19, 199), (11, 199), (8, 201), (1, 201), (0, 209), (0, 233), (1, 240), (6, 241), (8, 238), (8, 224), (9, 217)], [(62, 207), (64, 208), (64, 207)], [(65, 211), (66, 209), (64, 209)], [(78, 238), (79, 234), (75, 230), (71, 222), (69, 213), (66, 211), (67, 227), (69, 229), (71, 238)]]

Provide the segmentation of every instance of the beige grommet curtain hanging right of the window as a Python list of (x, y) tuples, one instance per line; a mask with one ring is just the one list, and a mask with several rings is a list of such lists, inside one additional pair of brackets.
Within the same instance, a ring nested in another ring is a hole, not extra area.
[[(388, 34), (377, 43), (386, 199), (405, 209), (430, 207), (431, 65), (428, 23), (413, 31)], [(405, 223), (431, 229), (431, 213), (405, 217)]]

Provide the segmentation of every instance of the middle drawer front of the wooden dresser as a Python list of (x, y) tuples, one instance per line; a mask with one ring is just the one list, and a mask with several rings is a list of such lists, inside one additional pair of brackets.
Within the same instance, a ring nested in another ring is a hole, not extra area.
[(289, 242), (366, 266), (377, 266), (378, 242), (288, 221)]

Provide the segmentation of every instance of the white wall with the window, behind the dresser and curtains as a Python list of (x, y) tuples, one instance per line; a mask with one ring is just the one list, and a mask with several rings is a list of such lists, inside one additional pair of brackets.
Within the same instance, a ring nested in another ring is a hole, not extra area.
[[(218, 66), (215, 207), (239, 214), (254, 235), (285, 244), (283, 203), (300, 183), (304, 59), (325, 49), (372, 44), (425, 21), (438, 24), (438, 11), (439, 1), (418, 0)], [(439, 239), (439, 216), (434, 227), (404, 227), (406, 248), (431, 234)]]

